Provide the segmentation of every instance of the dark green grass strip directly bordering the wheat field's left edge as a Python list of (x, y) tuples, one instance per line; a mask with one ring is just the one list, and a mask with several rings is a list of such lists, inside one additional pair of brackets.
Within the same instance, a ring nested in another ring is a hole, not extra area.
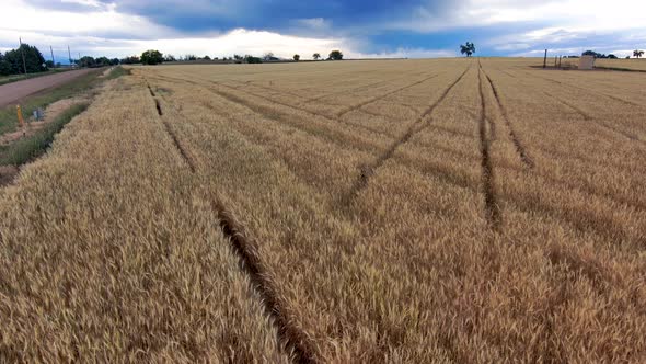
[(22, 166), (41, 157), (51, 146), (54, 136), (74, 116), (88, 109), (89, 104), (77, 104), (64, 111), (34, 135), (20, 139), (0, 150), (0, 166)]

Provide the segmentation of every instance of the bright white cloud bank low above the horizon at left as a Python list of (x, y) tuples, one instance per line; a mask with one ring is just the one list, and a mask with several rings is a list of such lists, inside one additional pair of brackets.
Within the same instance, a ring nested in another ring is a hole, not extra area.
[[(308, 59), (314, 53), (327, 55), (332, 49), (342, 49), (347, 58), (370, 57), (434, 57), (453, 54), (425, 50), (397, 49), (391, 53), (365, 54), (359, 43), (343, 37), (292, 36), (276, 32), (237, 29), (230, 32), (183, 34), (151, 23), (136, 15), (119, 13), (112, 5), (94, 0), (68, 0), (90, 8), (90, 11), (44, 12), (21, 0), (4, 0), (0, 14), (0, 46), (18, 46), (18, 38), (36, 45), (48, 56), (54, 48), (57, 60), (67, 60), (67, 46), (72, 48), (72, 58), (81, 56), (124, 57), (138, 55), (146, 49), (159, 49), (164, 54), (184, 56), (209, 55), (211, 57), (240, 55), (263, 55), (273, 52), (278, 57), (291, 58), (300, 54)], [(11, 14), (11, 15), (10, 15)], [(25, 21), (28, 20), (28, 21)], [(322, 18), (303, 19), (299, 23), (309, 27), (325, 27), (330, 22)], [(132, 38), (137, 35), (138, 38)], [(49, 57), (47, 57), (49, 58)]]

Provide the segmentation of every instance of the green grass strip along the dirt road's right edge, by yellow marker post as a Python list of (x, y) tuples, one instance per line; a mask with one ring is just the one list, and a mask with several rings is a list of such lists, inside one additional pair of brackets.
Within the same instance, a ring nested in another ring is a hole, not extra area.
[[(58, 100), (71, 98), (90, 90), (93, 86), (102, 81), (99, 76), (102, 70), (97, 69), (90, 73), (80, 76), (79, 78), (62, 84), (60, 87), (45, 90), (28, 96), (21, 103), (22, 114), (25, 118), (30, 117), (34, 110), (38, 107), (45, 109), (50, 103)], [(15, 114), (15, 105), (8, 105), (0, 109), (0, 135), (15, 130), (18, 126), (18, 117)]]

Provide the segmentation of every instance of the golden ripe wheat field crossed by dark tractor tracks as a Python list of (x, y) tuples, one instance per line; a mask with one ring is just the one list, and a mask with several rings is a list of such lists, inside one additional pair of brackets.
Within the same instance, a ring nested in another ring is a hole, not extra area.
[(646, 360), (646, 73), (134, 67), (0, 192), (0, 362)]

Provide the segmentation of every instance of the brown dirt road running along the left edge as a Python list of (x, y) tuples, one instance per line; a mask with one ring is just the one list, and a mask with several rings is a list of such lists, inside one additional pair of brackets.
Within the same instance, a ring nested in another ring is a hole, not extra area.
[(28, 80), (2, 84), (0, 86), (0, 107), (4, 107), (9, 104), (15, 103), (16, 101), (38, 91), (43, 91), (69, 82), (95, 69), (85, 68), (76, 71), (48, 75), (32, 78)]

